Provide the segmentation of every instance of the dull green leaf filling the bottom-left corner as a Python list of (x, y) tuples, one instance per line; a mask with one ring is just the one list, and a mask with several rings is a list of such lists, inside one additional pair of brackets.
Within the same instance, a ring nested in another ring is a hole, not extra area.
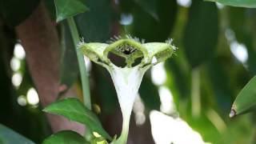
[(0, 143), (4, 144), (34, 144), (34, 142), (16, 133), (14, 130), (10, 130), (8, 127), (0, 124)]

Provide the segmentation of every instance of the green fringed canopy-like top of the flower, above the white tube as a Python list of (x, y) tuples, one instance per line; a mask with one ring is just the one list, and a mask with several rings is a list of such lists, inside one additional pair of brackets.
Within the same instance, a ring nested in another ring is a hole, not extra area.
[[(138, 38), (127, 37), (125, 39), (115, 39), (110, 44), (99, 42), (79, 42), (78, 49), (82, 50), (91, 61), (107, 66), (112, 64), (108, 54), (112, 53), (126, 59), (126, 67), (132, 67), (135, 59), (142, 58), (140, 66), (152, 65), (165, 61), (174, 53), (176, 47), (171, 44), (171, 40), (166, 42), (143, 43)], [(152, 62), (152, 60), (154, 62)]]

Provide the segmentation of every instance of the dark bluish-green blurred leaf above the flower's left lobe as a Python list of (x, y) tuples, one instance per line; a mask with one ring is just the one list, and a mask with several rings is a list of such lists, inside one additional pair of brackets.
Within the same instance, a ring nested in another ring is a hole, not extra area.
[(78, 31), (86, 42), (106, 42), (110, 39), (114, 30), (115, 13), (109, 0), (86, 0), (86, 6), (90, 11), (79, 14), (75, 18)]

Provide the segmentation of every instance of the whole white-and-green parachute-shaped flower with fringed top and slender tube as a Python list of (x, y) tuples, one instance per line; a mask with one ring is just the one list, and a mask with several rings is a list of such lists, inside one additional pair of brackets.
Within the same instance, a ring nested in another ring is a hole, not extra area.
[[(166, 42), (144, 43), (138, 38), (115, 37), (110, 44), (91, 42), (80, 42), (78, 48), (82, 50), (91, 61), (106, 68), (114, 82), (118, 94), (118, 102), (122, 110), (122, 133), (114, 140), (114, 143), (125, 144), (129, 132), (130, 114), (134, 100), (138, 95), (143, 75), (151, 66), (164, 62), (170, 58), (176, 47), (171, 44), (171, 39)], [(109, 54), (115, 54), (126, 59), (126, 66), (115, 66), (108, 58)], [(137, 66), (133, 66), (136, 59), (142, 59)]]

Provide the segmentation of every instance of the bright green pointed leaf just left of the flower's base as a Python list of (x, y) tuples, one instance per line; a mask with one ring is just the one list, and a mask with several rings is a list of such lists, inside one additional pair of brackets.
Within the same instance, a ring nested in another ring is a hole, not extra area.
[(97, 116), (86, 108), (77, 98), (65, 98), (46, 106), (43, 110), (50, 114), (62, 115), (75, 122), (81, 122), (90, 130), (101, 134), (102, 137), (111, 139), (110, 135), (102, 128)]

